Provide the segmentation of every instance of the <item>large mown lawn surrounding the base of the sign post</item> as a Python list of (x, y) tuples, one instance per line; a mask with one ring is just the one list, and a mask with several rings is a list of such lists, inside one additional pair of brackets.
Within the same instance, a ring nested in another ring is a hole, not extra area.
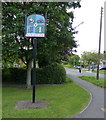
[(14, 87), (3, 88), (3, 118), (71, 118), (89, 103), (90, 94), (67, 78), (67, 83), (56, 86), (40, 86), (36, 100), (45, 100), (46, 109), (16, 110), (18, 101), (31, 100), (32, 91)]

